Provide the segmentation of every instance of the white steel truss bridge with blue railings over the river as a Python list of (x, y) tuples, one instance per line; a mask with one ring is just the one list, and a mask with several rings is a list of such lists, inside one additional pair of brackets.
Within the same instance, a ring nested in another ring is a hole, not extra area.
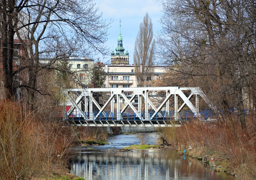
[[(155, 126), (200, 118), (199, 97), (216, 110), (198, 87), (65, 89), (63, 120), (74, 126)], [(186, 109), (185, 111), (182, 109)]]

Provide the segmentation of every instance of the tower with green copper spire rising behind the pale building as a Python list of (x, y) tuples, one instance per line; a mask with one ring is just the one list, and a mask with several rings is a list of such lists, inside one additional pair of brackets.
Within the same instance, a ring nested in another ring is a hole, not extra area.
[(129, 64), (129, 52), (126, 51), (124, 54), (124, 48), (122, 47), (122, 36), (121, 36), (121, 20), (120, 20), (120, 29), (119, 36), (117, 41), (117, 48), (111, 52), (111, 65), (128, 65)]

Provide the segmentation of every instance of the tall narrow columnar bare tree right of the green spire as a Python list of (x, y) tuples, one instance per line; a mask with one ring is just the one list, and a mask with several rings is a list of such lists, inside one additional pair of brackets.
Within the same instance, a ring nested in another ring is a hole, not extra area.
[(143, 22), (139, 25), (139, 32), (134, 46), (135, 76), (139, 87), (144, 87), (147, 80), (151, 80), (154, 73), (153, 25), (151, 18), (146, 13)]

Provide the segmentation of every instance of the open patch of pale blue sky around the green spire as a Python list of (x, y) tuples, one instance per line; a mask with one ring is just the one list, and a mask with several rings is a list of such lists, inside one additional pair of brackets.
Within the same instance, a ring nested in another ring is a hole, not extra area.
[[(113, 21), (108, 29), (108, 40), (105, 45), (112, 49), (117, 47), (117, 38), (119, 36), (119, 27), (121, 19), (121, 34), (125, 52), (129, 52), (129, 64), (133, 64), (133, 52), (136, 36), (139, 31), (139, 24), (143, 21), (146, 12), (152, 19), (154, 36), (161, 30), (160, 18), (163, 14), (162, 5), (159, 0), (95, 0), (95, 6), (102, 12), (102, 18), (106, 22)], [(114, 50), (115, 52), (115, 50)], [(103, 56), (97, 56), (101, 62), (110, 64), (110, 54), (105, 59)], [(95, 57), (96, 58), (96, 57)]]

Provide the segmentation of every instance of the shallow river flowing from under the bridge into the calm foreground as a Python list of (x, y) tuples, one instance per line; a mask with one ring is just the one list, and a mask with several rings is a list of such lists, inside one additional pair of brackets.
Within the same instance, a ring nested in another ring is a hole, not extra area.
[(130, 133), (108, 137), (108, 145), (75, 148), (71, 173), (86, 180), (232, 179), (225, 173), (214, 172), (202, 162), (178, 155), (173, 150), (119, 152), (115, 149), (139, 144), (140, 140), (156, 144), (158, 137), (157, 133)]

